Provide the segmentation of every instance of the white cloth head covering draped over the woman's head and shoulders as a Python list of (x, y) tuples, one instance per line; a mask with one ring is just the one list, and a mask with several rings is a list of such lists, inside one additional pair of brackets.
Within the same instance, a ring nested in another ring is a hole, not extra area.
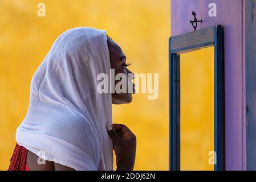
[(55, 40), (30, 85), (16, 141), (45, 160), (76, 170), (113, 170), (111, 93), (97, 92), (110, 60), (105, 30), (72, 28)]

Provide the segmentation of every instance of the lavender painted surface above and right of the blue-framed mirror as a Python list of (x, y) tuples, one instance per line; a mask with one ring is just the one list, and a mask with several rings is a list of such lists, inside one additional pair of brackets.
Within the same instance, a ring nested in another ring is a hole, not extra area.
[[(208, 15), (216, 3), (217, 17)], [(172, 36), (193, 31), (191, 11), (197, 13), (198, 30), (224, 26), (225, 47), (225, 169), (246, 170), (244, 2), (242, 0), (171, 0)]]

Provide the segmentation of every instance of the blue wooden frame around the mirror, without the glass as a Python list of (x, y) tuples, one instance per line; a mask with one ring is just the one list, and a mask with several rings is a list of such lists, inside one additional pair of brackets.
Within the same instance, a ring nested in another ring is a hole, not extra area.
[(224, 166), (224, 28), (217, 25), (169, 39), (169, 170), (180, 171), (180, 54), (214, 46), (214, 170)]

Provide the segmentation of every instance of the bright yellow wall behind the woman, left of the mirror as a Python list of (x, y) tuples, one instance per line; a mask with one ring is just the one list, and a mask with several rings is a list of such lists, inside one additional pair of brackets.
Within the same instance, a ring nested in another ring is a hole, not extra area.
[[(37, 16), (39, 2), (46, 17)], [(58, 35), (80, 26), (107, 30), (133, 72), (159, 73), (158, 100), (136, 94), (132, 104), (113, 106), (113, 122), (137, 136), (136, 170), (168, 169), (169, 0), (1, 0), (0, 16), (0, 169), (9, 166), (33, 73)]]

